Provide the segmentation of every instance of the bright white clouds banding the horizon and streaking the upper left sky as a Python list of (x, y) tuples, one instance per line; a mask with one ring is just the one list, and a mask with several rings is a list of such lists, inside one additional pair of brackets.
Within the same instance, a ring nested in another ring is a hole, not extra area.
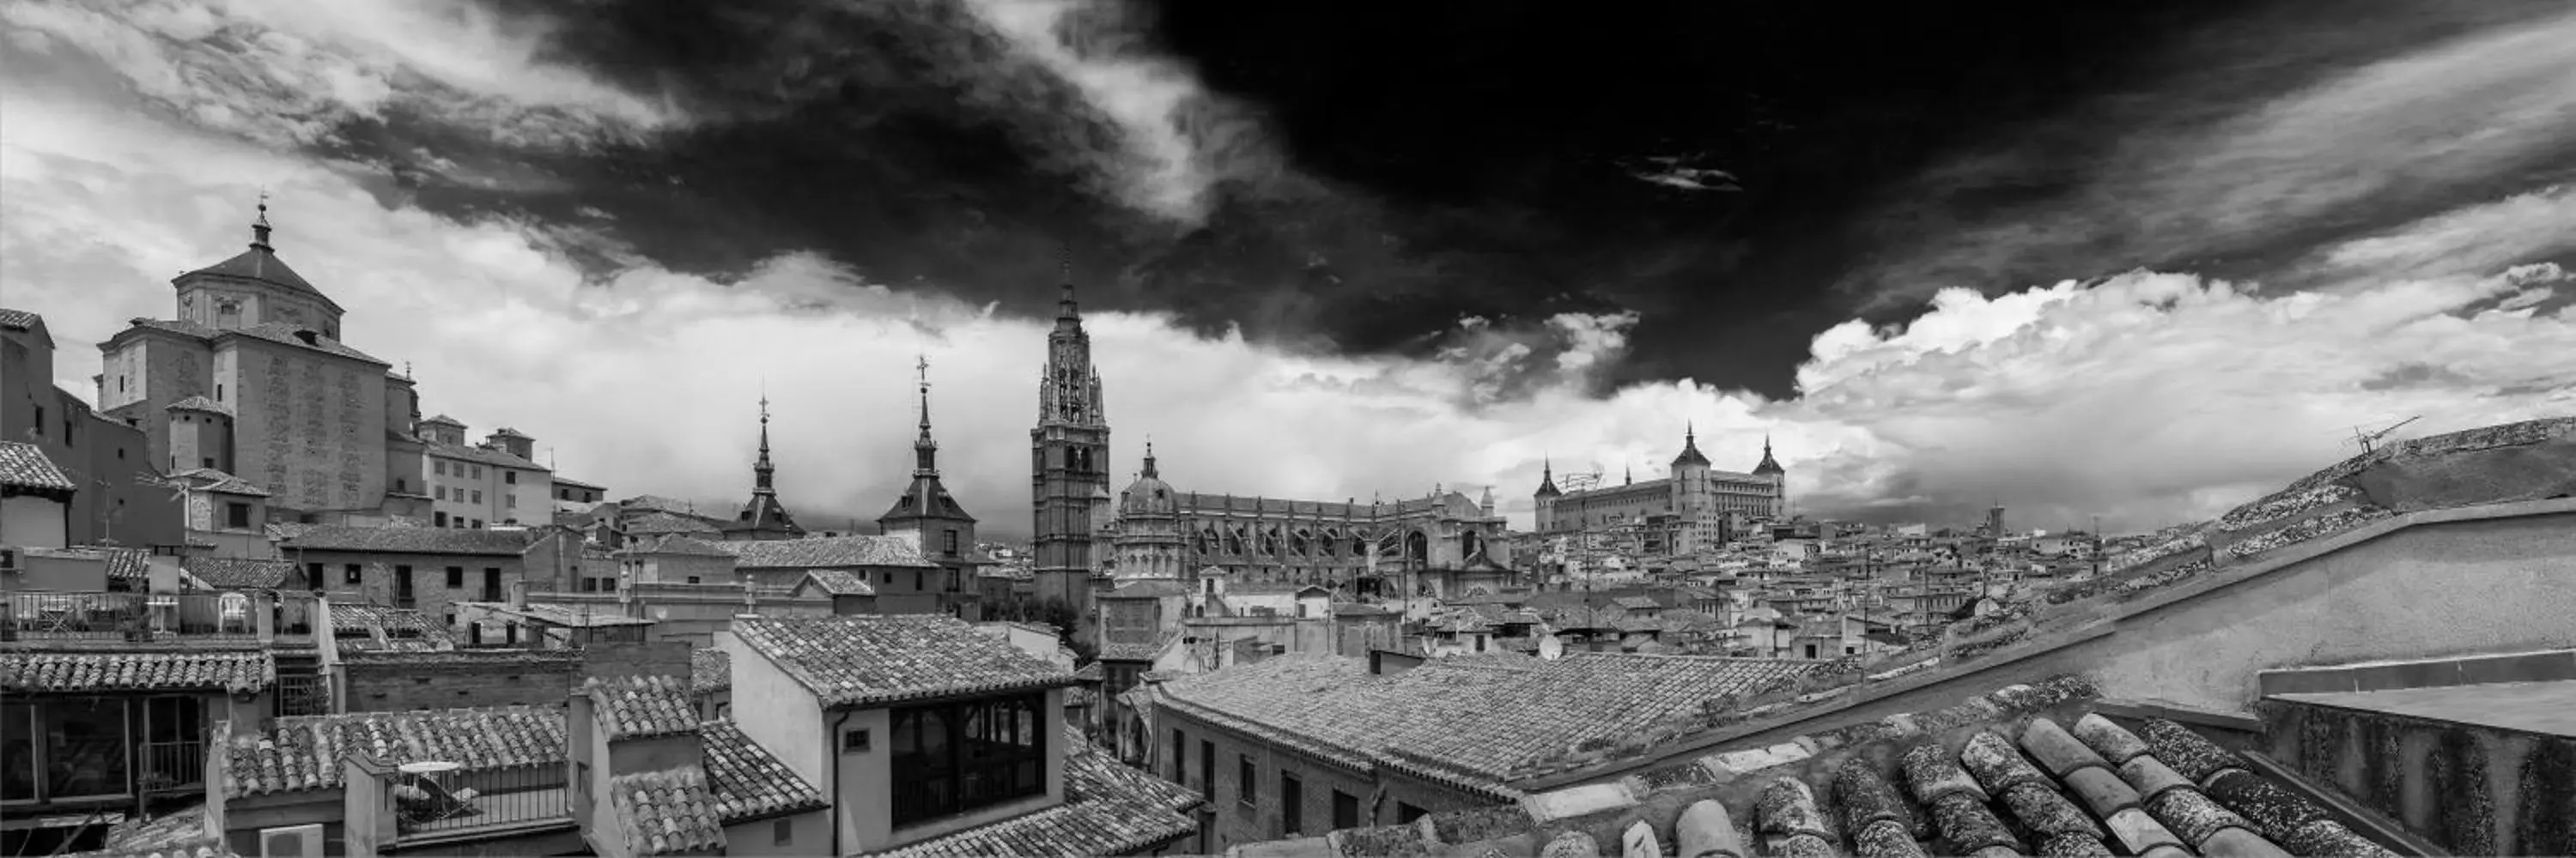
[[(1020, 36), (1054, 15), (1043, 3), (979, 8)], [(178, 5), (157, 10), (149, 21), (167, 33), (206, 26)], [(739, 502), (768, 394), (788, 505), (811, 526), (873, 518), (909, 474), (914, 361), (927, 356), (948, 484), (994, 533), (1028, 528), (1048, 322), (866, 283), (814, 255), (773, 258), (729, 286), (652, 265), (587, 283), (562, 255), (587, 242), (577, 232), (438, 219), (371, 196), (361, 170), (283, 147), (327, 134), (327, 111), (399, 98), (554, 142), (677, 121), (649, 98), (549, 70), (520, 36), (471, 15), (304, 15), (291, 31), (304, 41), (273, 36), (222, 59), (258, 75), (224, 75), (206, 67), (216, 59), (173, 54), (160, 31), (116, 31), (82, 8), (13, 5), (5, 21), (13, 49), (57, 64), (13, 70), (0, 90), (0, 304), (46, 314), (67, 389), (93, 392), (95, 340), (173, 312), (170, 276), (237, 253), (265, 188), (278, 253), (350, 309), (350, 345), (410, 366), (425, 412), (536, 435), (567, 477), (618, 497)], [(1136, 193), (1188, 209), (1190, 155), (1149, 129), (1170, 116), (1164, 82), (1180, 72), (1038, 59), (1087, 75), (1095, 98), (1141, 80), (1118, 95), (1118, 116), (1162, 173)], [(273, 85), (191, 85), (209, 75)], [(307, 100), (268, 100), (281, 90)], [(2004, 502), (2030, 526), (2102, 515), (2151, 528), (2349, 453), (2354, 425), (2421, 415), (2409, 430), (2432, 433), (2576, 412), (2576, 283), (2553, 265), (2512, 268), (2530, 242), (2468, 229), (2519, 224), (2512, 211), (2558, 216), (2563, 201), (2501, 198), (2494, 206), (2512, 209), (2473, 206), (2331, 250), (2318, 265), (2347, 271), (2342, 289), (2128, 273), (1999, 296), (1940, 291), (1904, 327), (1821, 332), (1798, 397), (1780, 402), (1692, 381), (1595, 392), (1633, 314), (1466, 319), (1430, 358), (1193, 338), (1159, 314), (1092, 314), (1090, 330), (1113, 461), (1133, 472), (1151, 438), (1180, 490), (1365, 500), (1492, 484), (1525, 526), (1540, 461), (1651, 479), (1687, 423), (1721, 469), (1752, 469), (1772, 438), (1795, 508), (1814, 515), (1958, 520)], [(2491, 265), (2414, 265), (2463, 245)]]

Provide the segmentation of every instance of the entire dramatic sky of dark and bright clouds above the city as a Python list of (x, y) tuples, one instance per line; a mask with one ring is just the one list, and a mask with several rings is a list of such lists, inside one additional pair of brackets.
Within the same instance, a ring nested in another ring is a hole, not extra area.
[[(2576, 412), (2576, 10), (0, 5), (0, 304), (67, 389), (276, 247), (425, 412), (809, 526), (1028, 531), (1072, 245), (1121, 482), (1419, 497), (1770, 435), (1793, 505), (2151, 528)], [(1206, 18), (1224, 8), (1226, 18)], [(1200, 18), (1193, 18), (1200, 15)]]

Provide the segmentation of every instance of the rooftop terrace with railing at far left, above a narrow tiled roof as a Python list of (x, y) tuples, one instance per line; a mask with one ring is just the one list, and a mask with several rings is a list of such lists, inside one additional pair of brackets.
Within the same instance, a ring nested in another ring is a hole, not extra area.
[(0, 642), (296, 642), (317, 600), (301, 593), (0, 593)]

